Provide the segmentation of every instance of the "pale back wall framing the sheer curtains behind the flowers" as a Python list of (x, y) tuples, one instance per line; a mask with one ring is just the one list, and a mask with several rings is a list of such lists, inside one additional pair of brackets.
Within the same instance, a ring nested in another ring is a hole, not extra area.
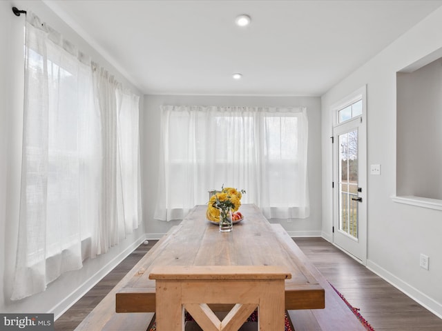
[[(320, 181), (320, 98), (318, 97), (219, 97), (219, 96), (171, 96), (146, 95), (142, 122), (142, 188), (143, 211), (146, 232), (151, 238), (164, 234), (177, 221), (164, 222), (153, 219), (155, 210), (160, 143), (160, 106), (305, 106), (309, 119), (309, 191), (310, 217), (295, 219), (291, 223), (280, 221), (292, 236), (319, 236), (321, 230), (321, 181)], [(209, 188), (208, 188), (209, 189)], [(277, 220), (270, 220), (278, 222)]]

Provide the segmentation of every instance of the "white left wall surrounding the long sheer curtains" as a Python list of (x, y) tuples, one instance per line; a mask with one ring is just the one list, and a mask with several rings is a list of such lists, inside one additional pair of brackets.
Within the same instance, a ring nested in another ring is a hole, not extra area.
[[(78, 299), (144, 239), (144, 226), (110, 252), (85, 261), (84, 268), (68, 272), (48, 285), (46, 292), (10, 301), (10, 283), (17, 243), (23, 118), (23, 22), (11, 8), (32, 10), (64, 34), (95, 61), (108, 68), (133, 92), (141, 94), (93, 48), (61, 21), (41, 1), (0, 1), (0, 312), (54, 312), (55, 316)], [(142, 103), (142, 100), (141, 100)], [(141, 106), (142, 108), (142, 106)]]

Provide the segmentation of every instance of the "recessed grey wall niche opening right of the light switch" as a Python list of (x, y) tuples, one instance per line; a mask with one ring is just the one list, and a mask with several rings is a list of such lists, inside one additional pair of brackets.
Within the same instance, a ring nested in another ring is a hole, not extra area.
[(441, 56), (439, 50), (396, 72), (397, 197), (442, 203)]

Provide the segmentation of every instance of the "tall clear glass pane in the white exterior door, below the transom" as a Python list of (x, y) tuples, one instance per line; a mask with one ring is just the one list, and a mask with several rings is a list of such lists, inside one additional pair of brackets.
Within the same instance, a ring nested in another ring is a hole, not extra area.
[(358, 238), (358, 131), (340, 134), (339, 230)]

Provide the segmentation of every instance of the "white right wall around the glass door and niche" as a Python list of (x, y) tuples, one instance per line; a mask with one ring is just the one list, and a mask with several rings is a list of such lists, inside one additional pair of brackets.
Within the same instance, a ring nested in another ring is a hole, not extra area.
[[(367, 84), (367, 163), (381, 164), (381, 176), (369, 174), (367, 182), (367, 266), (440, 317), (442, 212), (395, 203), (391, 197), (396, 194), (396, 72), (442, 48), (441, 31), (439, 8), (322, 97), (327, 187), (332, 181), (330, 106)], [(331, 190), (323, 190), (323, 235), (332, 238)], [(430, 257), (430, 270), (419, 268), (420, 253)]]

